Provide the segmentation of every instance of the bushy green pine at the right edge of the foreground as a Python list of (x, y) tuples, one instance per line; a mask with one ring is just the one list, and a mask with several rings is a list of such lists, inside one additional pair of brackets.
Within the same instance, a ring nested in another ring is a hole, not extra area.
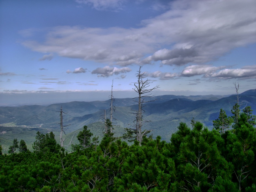
[[(235, 124), (235, 134), (227, 137), (228, 157), (234, 165), (234, 178), (239, 191), (255, 182), (255, 143), (256, 130), (247, 122), (246, 114), (241, 113)], [(250, 177), (250, 175), (254, 175)]]

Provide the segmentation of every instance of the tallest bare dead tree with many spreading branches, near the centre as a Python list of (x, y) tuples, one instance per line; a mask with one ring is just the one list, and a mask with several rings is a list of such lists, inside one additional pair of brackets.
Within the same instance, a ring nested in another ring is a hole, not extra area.
[[(141, 145), (143, 135), (150, 132), (150, 130), (145, 130), (144, 132), (141, 131), (142, 125), (145, 122), (143, 120), (143, 116), (142, 116), (142, 114), (144, 113), (144, 110), (142, 109), (143, 104), (145, 102), (151, 102), (151, 101), (144, 101), (144, 99), (146, 97), (152, 97), (151, 91), (159, 88), (158, 85), (153, 88), (149, 88), (150, 83), (152, 83), (152, 82), (150, 82), (148, 79), (144, 80), (145, 73), (141, 73), (141, 67), (142, 66), (140, 66), (139, 71), (137, 71), (138, 73), (137, 73), (136, 77), (138, 78), (138, 81), (136, 83), (134, 83), (135, 88), (133, 88), (133, 90), (138, 93), (138, 97), (135, 97), (138, 99), (138, 101), (136, 101), (136, 100), (134, 100), (134, 101), (138, 102), (138, 111), (135, 111), (136, 112), (135, 114), (136, 114), (136, 135), (137, 135), (137, 140), (139, 141), (139, 145)], [(133, 98), (133, 99), (135, 99), (135, 98)], [(154, 100), (152, 100), (152, 101), (154, 101)]]

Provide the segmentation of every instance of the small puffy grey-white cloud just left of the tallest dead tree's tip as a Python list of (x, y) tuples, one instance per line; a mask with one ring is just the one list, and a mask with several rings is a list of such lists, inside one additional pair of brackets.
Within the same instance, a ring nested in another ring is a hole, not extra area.
[(97, 69), (93, 70), (91, 74), (98, 74), (98, 77), (109, 77), (113, 74), (118, 75), (120, 73), (126, 73), (130, 71), (131, 69), (128, 67), (117, 68), (117, 67), (105, 66), (103, 68), (98, 67)]

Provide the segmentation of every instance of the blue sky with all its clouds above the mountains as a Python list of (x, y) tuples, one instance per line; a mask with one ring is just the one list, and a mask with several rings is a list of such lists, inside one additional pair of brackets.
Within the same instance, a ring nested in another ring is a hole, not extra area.
[(0, 105), (256, 88), (255, 0), (1, 0)]

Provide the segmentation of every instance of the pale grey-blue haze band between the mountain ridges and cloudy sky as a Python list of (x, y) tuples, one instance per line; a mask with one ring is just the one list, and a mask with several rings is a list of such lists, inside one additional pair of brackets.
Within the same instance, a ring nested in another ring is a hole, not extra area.
[[(245, 90), (247, 91), (247, 90)], [(244, 91), (239, 91), (242, 93)], [(72, 101), (106, 101), (110, 99), (111, 91), (66, 91), (47, 93), (0, 93), (0, 106), (20, 106), (20, 105), (49, 105), (54, 103), (66, 103)], [(176, 95), (176, 96), (196, 96), (196, 95), (221, 95), (229, 96), (235, 94), (221, 94), (214, 92), (191, 92), (191, 91), (153, 91), (152, 96)], [(138, 95), (132, 91), (113, 91), (114, 98), (134, 98)]]

